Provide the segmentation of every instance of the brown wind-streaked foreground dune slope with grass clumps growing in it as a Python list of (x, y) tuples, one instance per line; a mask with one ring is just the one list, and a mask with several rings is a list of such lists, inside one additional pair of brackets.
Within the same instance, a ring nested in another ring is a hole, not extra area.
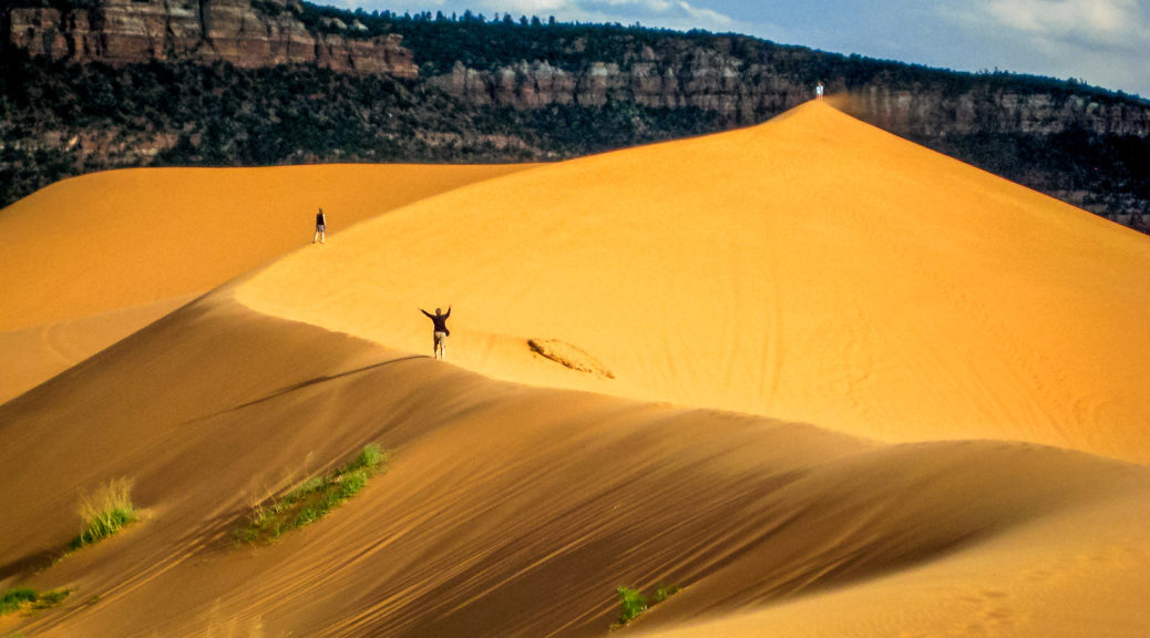
[[(1147, 627), (1145, 467), (532, 389), (227, 294), (0, 406), (0, 587), (72, 590), (0, 632), (605, 636), (615, 587), (660, 581), (683, 591), (626, 631)], [(355, 499), (231, 540), (252, 502), (369, 441), (392, 468)], [(146, 520), (51, 564), (78, 494), (120, 476)]]

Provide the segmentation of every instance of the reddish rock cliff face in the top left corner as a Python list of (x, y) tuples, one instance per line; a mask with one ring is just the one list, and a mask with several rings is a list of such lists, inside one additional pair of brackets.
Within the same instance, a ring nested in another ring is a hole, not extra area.
[[(93, 9), (14, 8), (8, 44), (32, 55), (112, 64), (194, 55), (244, 68), (314, 63), (343, 72), (417, 75), (399, 36), (309, 31), (298, 0), (106, 0)], [(339, 31), (355, 25), (332, 24)]]

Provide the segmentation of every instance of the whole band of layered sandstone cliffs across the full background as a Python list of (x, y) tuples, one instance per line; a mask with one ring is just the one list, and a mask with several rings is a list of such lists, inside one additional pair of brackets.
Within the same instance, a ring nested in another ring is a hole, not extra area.
[[(13, 8), (0, 41), (32, 55), (79, 62), (191, 55), (241, 68), (314, 63), (345, 72), (420, 75), (415, 57), (421, 52), (406, 48), (400, 36), (365, 37), (366, 28), (354, 18), (350, 24), (324, 18), (323, 29), (309, 29), (299, 0), (100, 0), (89, 6)], [(575, 41), (572, 49), (577, 53), (583, 44)], [(612, 59), (586, 55), (574, 63), (570, 57), (566, 63), (520, 60), (477, 69), (457, 62), (425, 79), (473, 106), (534, 109), (622, 100), (644, 107), (693, 107), (718, 114), (726, 125), (745, 125), (811, 99), (810, 74), (795, 72), (810, 67), (810, 55), (737, 36), (706, 41), (666, 38), (657, 48), (635, 43)], [(1150, 107), (1144, 102), (1096, 100), (1068, 91), (1019, 91), (1011, 83), (971, 83), (956, 91), (929, 83), (860, 86), (833, 72), (820, 79), (830, 92), (851, 97), (849, 112), (904, 136), (1049, 134), (1071, 129), (1150, 136)]]

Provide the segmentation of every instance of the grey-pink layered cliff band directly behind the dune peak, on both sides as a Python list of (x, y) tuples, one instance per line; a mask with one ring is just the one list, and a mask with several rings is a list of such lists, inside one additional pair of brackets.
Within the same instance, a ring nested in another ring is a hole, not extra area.
[[(546, 61), (520, 61), (492, 70), (457, 63), (429, 79), (473, 105), (519, 109), (550, 105), (603, 106), (610, 100), (647, 107), (695, 107), (715, 112), (729, 125), (761, 122), (813, 97), (810, 83), (779, 72), (770, 61), (738, 57), (699, 46), (656, 53), (644, 47), (619, 61), (590, 61), (567, 70)], [(961, 92), (925, 85), (918, 90), (850, 86), (828, 78), (844, 108), (904, 136), (975, 132), (1058, 133), (1082, 129), (1099, 134), (1150, 136), (1150, 107), (1096, 100), (1068, 92), (1019, 91), (974, 85)]]

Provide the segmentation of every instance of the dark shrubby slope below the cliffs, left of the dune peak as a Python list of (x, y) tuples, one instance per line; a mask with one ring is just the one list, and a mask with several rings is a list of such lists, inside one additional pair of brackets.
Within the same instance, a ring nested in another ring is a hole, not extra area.
[(555, 160), (716, 130), (699, 109), (471, 106), (419, 80), (302, 66), (113, 68), (0, 54), (2, 205), (139, 166)]

